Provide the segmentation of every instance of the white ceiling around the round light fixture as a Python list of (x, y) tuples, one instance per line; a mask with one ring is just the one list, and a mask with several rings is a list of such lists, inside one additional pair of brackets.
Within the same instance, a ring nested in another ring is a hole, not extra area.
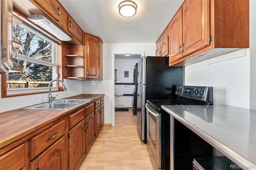
[(184, 0), (134, 0), (137, 13), (118, 13), (122, 0), (59, 0), (84, 32), (103, 42), (155, 43)]

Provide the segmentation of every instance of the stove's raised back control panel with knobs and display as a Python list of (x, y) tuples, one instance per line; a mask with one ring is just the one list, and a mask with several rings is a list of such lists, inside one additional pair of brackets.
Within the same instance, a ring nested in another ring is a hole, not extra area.
[(212, 93), (212, 87), (177, 86), (175, 94), (178, 96), (207, 101), (209, 89), (211, 90)]

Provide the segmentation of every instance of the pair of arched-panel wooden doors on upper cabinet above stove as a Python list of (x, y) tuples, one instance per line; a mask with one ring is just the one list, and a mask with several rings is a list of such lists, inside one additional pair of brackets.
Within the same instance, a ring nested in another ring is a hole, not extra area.
[(210, 0), (187, 0), (170, 22), (169, 63), (210, 45)]

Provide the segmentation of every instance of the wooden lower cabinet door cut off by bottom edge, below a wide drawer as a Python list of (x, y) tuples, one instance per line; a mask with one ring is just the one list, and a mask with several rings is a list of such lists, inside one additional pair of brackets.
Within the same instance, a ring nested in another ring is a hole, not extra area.
[(65, 136), (62, 136), (31, 163), (31, 170), (66, 170)]

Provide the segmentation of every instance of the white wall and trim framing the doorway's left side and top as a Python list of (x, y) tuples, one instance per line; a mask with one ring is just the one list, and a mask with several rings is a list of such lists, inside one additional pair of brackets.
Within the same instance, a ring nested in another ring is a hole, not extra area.
[[(103, 43), (104, 123), (114, 125), (114, 53), (155, 55), (155, 43)], [(113, 115), (112, 115), (113, 113)]]

